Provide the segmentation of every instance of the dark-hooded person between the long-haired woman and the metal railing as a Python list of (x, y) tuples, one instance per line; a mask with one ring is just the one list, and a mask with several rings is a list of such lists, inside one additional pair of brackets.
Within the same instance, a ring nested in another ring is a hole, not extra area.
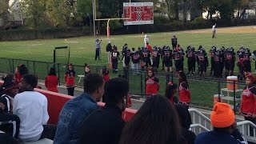
[(179, 122), (181, 122), (183, 137), (186, 138), (188, 144), (194, 144), (196, 136), (193, 131), (189, 130), (192, 123), (189, 110), (182, 103), (175, 104), (175, 108), (178, 112)]

